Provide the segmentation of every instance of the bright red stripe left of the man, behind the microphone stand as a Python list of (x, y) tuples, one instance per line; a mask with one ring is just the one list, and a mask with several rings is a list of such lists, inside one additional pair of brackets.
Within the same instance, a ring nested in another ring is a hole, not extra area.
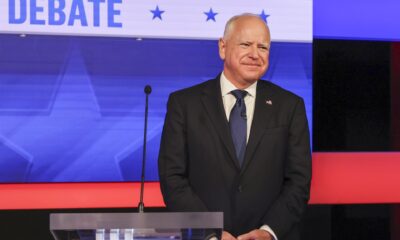
[[(0, 184), (0, 209), (137, 207), (140, 183)], [(158, 182), (148, 182), (145, 207), (164, 206)]]

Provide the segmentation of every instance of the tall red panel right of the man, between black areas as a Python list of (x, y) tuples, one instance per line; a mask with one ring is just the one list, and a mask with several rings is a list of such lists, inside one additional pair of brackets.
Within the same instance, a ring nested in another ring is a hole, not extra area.
[(400, 153), (314, 153), (312, 204), (400, 203)]

